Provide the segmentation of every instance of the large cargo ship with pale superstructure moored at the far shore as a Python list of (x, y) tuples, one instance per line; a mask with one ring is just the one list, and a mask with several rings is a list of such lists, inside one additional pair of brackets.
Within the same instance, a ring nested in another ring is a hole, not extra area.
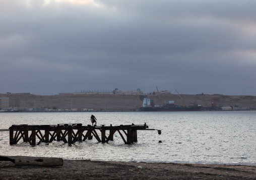
[(163, 106), (157, 106), (154, 100), (145, 97), (143, 99), (141, 111), (200, 111), (201, 106), (195, 104), (194, 106), (178, 106), (174, 104), (174, 101), (164, 101)]

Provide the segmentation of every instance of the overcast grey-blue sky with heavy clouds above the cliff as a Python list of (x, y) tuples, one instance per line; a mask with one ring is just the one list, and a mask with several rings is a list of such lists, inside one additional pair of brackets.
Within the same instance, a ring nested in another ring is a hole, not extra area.
[(0, 93), (256, 96), (254, 0), (0, 0)]

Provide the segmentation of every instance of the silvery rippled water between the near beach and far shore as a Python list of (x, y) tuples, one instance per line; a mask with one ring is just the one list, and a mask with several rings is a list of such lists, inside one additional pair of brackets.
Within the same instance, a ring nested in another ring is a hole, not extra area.
[[(256, 165), (256, 111), (94, 112), (97, 124), (144, 124), (155, 131), (138, 131), (138, 142), (125, 145), (95, 138), (68, 146), (54, 141), (35, 147), (20, 141), (9, 145), (9, 132), (0, 132), (0, 155), (62, 157), (146, 162), (186, 162)], [(12, 124), (90, 124), (91, 112), (0, 113), (0, 129)], [(162, 143), (158, 143), (162, 140)], [(37, 139), (38, 142), (38, 139)]]

